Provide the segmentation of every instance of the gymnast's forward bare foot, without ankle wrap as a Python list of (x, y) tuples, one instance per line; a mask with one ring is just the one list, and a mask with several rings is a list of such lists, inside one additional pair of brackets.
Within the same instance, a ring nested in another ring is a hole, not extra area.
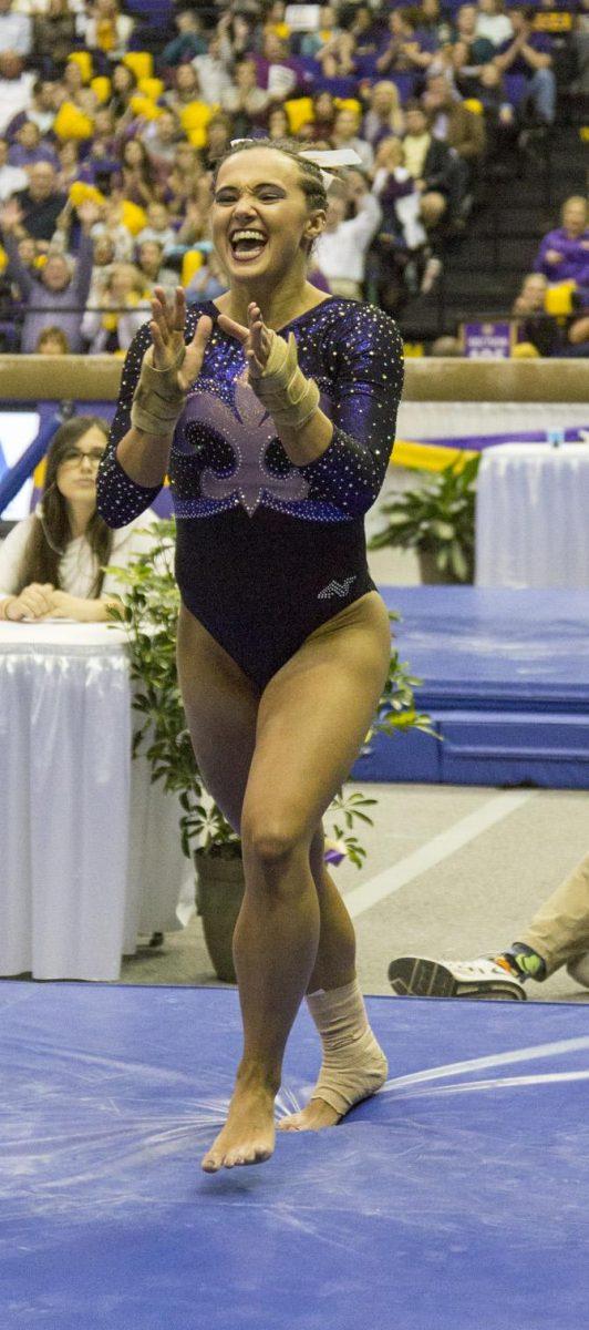
[(274, 1095), (237, 1088), (223, 1129), (202, 1160), (205, 1173), (243, 1164), (263, 1164), (274, 1153)]

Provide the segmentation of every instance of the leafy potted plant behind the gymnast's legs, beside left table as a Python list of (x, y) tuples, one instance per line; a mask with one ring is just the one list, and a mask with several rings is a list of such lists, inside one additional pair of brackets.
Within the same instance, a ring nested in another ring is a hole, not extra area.
[[(245, 887), (241, 841), (205, 790), (182, 705), (176, 666), (179, 592), (173, 571), (174, 521), (158, 521), (150, 531), (156, 531), (158, 543), (149, 553), (126, 568), (108, 568), (125, 588), (124, 608), (113, 610), (112, 618), (117, 624), (122, 618), (126, 628), (133, 708), (140, 716), (132, 753), (145, 753), (152, 781), (161, 781), (166, 793), (178, 795), (181, 845), (187, 858), (194, 857), (205, 940), (217, 976), (233, 983), (231, 939)], [(395, 734), (410, 726), (433, 733), (429, 718), (415, 708), (416, 684), (419, 680), (411, 677), (394, 650), (367, 741), (380, 730)], [(327, 814), (327, 859), (339, 862), (346, 857), (362, 867), (366, 850), (355, 825), (372, 825), (366, 810), (376, 802), (358, 790), (336, 795)]]

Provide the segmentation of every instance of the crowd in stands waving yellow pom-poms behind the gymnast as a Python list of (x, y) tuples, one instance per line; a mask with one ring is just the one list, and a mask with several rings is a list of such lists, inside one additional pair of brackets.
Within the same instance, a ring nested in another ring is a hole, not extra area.
[[(402, 313), (435, 287), (483, 180), (550, 138), (561, 89), (586, 96), (588, 47), (589, 0), (0, 0), (1, 344), (122, 355), (156, 282), (223, 291), (211, 172), (257, 136), (356, 152), (312, 281)], [(513, 314), (541, 354), (589, 343), (584, 198)]]

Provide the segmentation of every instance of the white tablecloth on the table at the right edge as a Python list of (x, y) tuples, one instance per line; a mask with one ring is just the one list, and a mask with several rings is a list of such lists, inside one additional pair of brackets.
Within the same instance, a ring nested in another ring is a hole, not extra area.
[(479, 469), (479, 587), (589, 587), (589, 444), (505, 443)]

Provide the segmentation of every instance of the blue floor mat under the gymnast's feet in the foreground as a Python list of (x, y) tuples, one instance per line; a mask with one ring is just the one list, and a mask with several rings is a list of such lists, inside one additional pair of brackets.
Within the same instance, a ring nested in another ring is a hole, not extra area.
[[(3, 1330), (578, 1330), (588, 1008), (368, 1007), (387, 1088), (210, 1177), (237, 992), (3, 983)], [(316, 1067), (303, 1011), (279, 1112)]]

